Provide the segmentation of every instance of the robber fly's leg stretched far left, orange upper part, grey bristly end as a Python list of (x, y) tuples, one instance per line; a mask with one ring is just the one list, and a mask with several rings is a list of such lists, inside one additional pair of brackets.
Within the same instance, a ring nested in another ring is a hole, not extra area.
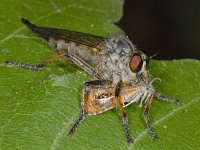
[(21, 67), (21, 68), (25, 68), (25, 69), (30, 69), (30, 70), (40, 70), (42, 68), (44, 68), (47, 64), (50, 64), (52, 62), (54, 62), (57, 59), (60, 59), (61, 57), (65, 56), (66, 53), (61, 53), (51, 59), (48, 59), (47, 61), (44, 61), (42, 63), (40, 63), (39, 65), (32, 65), (32, 64), (25, 64), (25, 63), (19, 63), (19, 62), (13, 62), (13, 61), (7, 61), (6, 64), (7, 65), (14, 65), (17, 67)]

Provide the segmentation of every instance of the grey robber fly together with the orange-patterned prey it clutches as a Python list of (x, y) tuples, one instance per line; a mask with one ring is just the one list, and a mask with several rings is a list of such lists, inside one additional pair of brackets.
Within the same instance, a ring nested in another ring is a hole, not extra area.
[(64, 57), (91, 76), (91, 80), (86, 82), (83, 88), (82, 113), (68, 135), (73, 135), (87, 116), (117, 107), (122, 114), (127, 142), (132, 142), (127, 114), (123, 107), (139, 102), (140, 106), (144, 104), (144, 120), (147, 128), (152, 138), (157, 138), (148, 118), (154, 97), (177, 104), (179, 101), (161, 96), (153, 88), (154, 80), (150, 80), (147, 69), (149, 57), (138, 50), (127, 36), (105, 38), (63, 29), (38, 27), (24, 18), (22, 22), (46, 40), (58, 55), (39, 65), (12, 61), (7, 61), (7, 64), (40, 70)]

